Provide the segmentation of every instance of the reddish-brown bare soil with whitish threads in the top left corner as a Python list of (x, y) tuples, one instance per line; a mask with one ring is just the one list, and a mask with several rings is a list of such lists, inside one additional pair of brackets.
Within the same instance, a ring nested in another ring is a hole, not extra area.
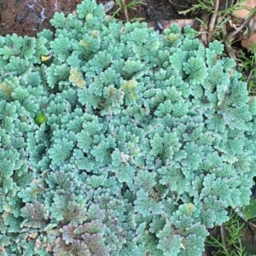
[(73, 12), (78, 3), (81, 0), (3, 0), (1, 35), (35, 36), (44, 28), (52, 29), (49, 20), (54, 13)]

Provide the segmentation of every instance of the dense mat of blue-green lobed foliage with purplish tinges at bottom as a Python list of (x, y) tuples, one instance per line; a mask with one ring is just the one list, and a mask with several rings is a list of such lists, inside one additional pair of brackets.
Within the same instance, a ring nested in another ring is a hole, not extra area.
[(256, 175), (235, 62), (91, 0), (51, 23), (0, 37), (1, 255), (201, 255)]

